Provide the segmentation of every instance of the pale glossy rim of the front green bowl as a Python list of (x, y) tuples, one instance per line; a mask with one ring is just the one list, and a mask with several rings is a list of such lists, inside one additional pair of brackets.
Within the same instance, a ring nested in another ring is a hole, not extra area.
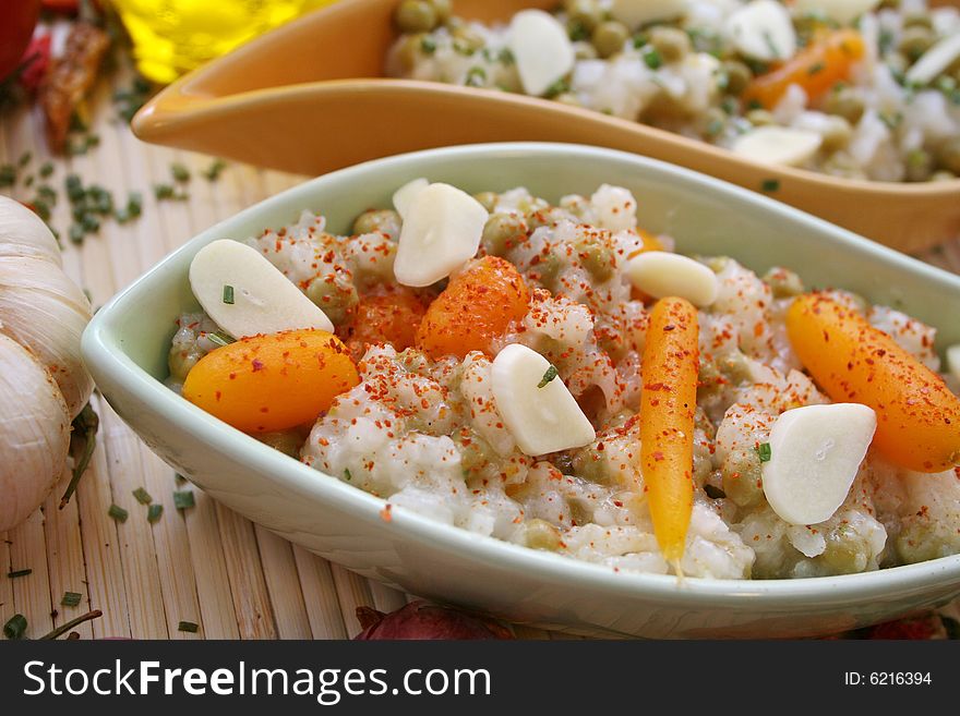
[[(362, 175), (372, 170), (385, 168), (404, 168), (409, 166), (412, 169), (421, 160), (433, 157), (469, 160), (481, 156), (485, 158), (491, 153), (496, 151), (521, 153), (548, 158), (560, 157), (560, 155), (565, 157), (579, 155), (584, 158), (601, 156), (613, 161), (633, 163), (635, 167), (645, 170), (671, 173), (686, 182), (699, 184), (704, 191), (725, 193), (731, 198), (755, 204), (768, 213), (790, 216), (794, 220), (807, 223), (812, 229), (826, 230), (832, 234), (833, 240), (851, 244), (877, 257), (893, 258), (899, 263), (907, 263), (912, 271), (923, 274), (933, 280), (951, 283), (960, 291), (960, 277), (958, 276), (910, 256), (899, 254), (891, 248), (876, 244), (845, 229), (776, 202), (767, 196), (693, 170), (625, 151), (588, 145), (547, 142), (473, 144), (407, 153), (340, 169), (298, 184), (206, 229), (168, 254), (146, 274), (115, 295), (96, 313), (83, 335), (82, 352), (84, 360), (88, 365), (97, 366), (103, 372), (109, 372), (123, 389), (128, 390), (143, 404), (151, 405), (152, 409), (165, 415), (168, 420), (176, 418), (180, 421), (183, 428), (200, 437), (204, 442), (212, 445), (218, 450), (231, 452), (237, 460), (256, 469), (263, 480), (276, 486), (292, 488), (305, 496), (346, 511), (351, 517), (364, 522), (380, 523), (382, 525), (383, 518), (381, 512), (388, 503), (388, 500), (374, 497), (336, 477), (313, 470), (260, 442), (255, 438), (230, 427), (188, 402), (163, 383), (148, 375), (110, 339), (113, 314), (125, 312), (128, 310), (127, 304), (142, 290), (141, 287), (144, 283), (168, 281), (169, 278), (164, 275), (172, 270), (171, 264), (176, 262), (181, 253), (195, 253), (202, 245), (216, 238), (220, 238), (229, 224), (255, 216), (276, 203), (279, 197), (298, 194), (310, 196), (322, 191), (327, 184), (335, 184), (352, 175)], [(526, 573), (536, 572), (554, 581), (574, 581), (577, 584), (589, 585), (598, 591), (624, 596), (633, 594), (635, 596), (652, 597), (674, 603), (681, 600), (691, 606), (719, 605), (721, 603), (735, 604), (743, 603), (745, 599), (761, 599), (765, 607), (792, 606), (796, 608), (799, 598), (814, 599), (815, 602), (812, 602), (812, 605), (818, 604), (823, 606), (823, 599), (828, 599), (833, 605), (840, 605), (923, 590), (943, 582), (960, 581), (960, 555), (940, 557), (915, 565), (836, 577), (779, 580), (728, 580), (688, 577), (680, 581), (675, 577), (668, 574), (614, 571), (602, 565), (585, 562), (569, 557), (514, 545), (495, 537), (469, 532), (466, 529), (447, 525), (401, 508), (393, 508), (391, 523), (418, 542), (429, 543), (434, 546), (441, 545), (451, 553), (469, 553), (478, 560), (496, 563), (503, 568), (523, 570)], [(757, 604), (756, 606), (759, 607), (760, 605)]]

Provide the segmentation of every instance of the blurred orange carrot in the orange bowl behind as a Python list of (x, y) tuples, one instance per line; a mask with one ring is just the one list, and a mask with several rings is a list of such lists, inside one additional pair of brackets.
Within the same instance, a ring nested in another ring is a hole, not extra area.
[(803, 87), (809, 99), (816, 99), (838, 82), (849, 80), (864, 52), (863, 37), (855, 29), (821, 35), (776, 70), (757, 76), (744, 90), (743, 100), (772, 109), (794, 84)]

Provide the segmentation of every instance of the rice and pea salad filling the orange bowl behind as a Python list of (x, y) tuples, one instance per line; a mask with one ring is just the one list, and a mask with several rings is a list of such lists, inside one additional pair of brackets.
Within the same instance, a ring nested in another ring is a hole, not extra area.
[(960, 175), (960, 11), (926, 0), (565, 0), (483, 25), (404, 0), (396, 77), (545, 97), (767, 163)]

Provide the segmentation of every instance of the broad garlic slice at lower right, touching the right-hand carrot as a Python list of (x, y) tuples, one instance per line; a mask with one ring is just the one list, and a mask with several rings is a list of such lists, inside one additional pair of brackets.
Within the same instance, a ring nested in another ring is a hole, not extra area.
[(877, 427), (859, 403), (806, 405), (781, 414), (763, 464), (764, 494), (790, 524), (830, 519), (847, 499)]

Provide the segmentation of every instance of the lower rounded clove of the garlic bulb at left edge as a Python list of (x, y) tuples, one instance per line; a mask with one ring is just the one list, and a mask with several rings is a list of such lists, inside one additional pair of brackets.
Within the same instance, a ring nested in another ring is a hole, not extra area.
[(50, 373), (20, 343), (0, 335), (0, 532), (26, 520), (67, 465), (70, 414)]

